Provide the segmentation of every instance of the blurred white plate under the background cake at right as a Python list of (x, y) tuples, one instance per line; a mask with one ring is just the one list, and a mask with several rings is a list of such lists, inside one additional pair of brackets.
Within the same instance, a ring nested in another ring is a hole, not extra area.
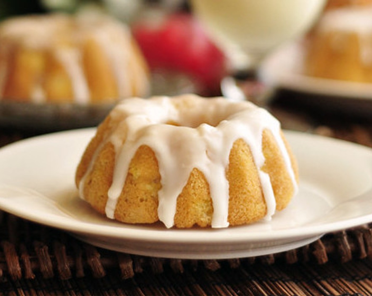
[(265, 60), (260, 69), (260, 77), (270, 86), (298, 92), (353, 101), (372, 100), (372, 84), (306, 76), (302, 74), (302, 65), (301, 42), (292, 42), (282, 46)]

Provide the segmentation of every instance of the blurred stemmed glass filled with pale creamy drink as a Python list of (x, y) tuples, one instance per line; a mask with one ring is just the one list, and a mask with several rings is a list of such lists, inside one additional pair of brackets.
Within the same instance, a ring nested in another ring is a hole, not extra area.
[(250, 93), (252, 101), (263, 94), (257, 79), (263, 59), (309, 29), (325, 4), (325, 0), (190, 1), (193, 13), (230, 61), (231, 75), (221, 82), (222, 94), (242, 100)]

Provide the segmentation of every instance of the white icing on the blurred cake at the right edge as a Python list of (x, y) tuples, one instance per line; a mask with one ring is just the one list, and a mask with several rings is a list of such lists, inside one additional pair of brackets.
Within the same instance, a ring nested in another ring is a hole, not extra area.
[[(360, 59), (372, 64), (372, 7), (343, 7), (327, 11), (321, 18), (319, 29), (323, 32), (356, 33), (359, 37)], [(337, 47), (337, 42), (334, 42)]]

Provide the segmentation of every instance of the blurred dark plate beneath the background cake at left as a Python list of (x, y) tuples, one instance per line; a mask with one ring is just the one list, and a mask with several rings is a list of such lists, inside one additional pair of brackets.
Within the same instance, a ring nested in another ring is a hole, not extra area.
[[(180, 73), (153, 72), (150, 83), (150, 95), (153, 96), (196, 92), (192, 81)], [(77, 104), (3, 99), (0, 100), (0, 127), (32, 130), (36, 133), (96, 127), (119, 101)]]

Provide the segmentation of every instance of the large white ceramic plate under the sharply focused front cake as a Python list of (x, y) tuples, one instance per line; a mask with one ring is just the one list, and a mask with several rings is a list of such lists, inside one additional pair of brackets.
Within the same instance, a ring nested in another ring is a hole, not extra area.
[(60, 132), (0, 149), (0, 209), (103, 248), (193, 259), (272, 254), (372, 221), (372, 150), (294, 132), (286, 136), (299, 162), (299, 193), (270, 222), (183, 230), (109, 220), (80, 200), (74, 186), (75, 168), (94, 132)]

